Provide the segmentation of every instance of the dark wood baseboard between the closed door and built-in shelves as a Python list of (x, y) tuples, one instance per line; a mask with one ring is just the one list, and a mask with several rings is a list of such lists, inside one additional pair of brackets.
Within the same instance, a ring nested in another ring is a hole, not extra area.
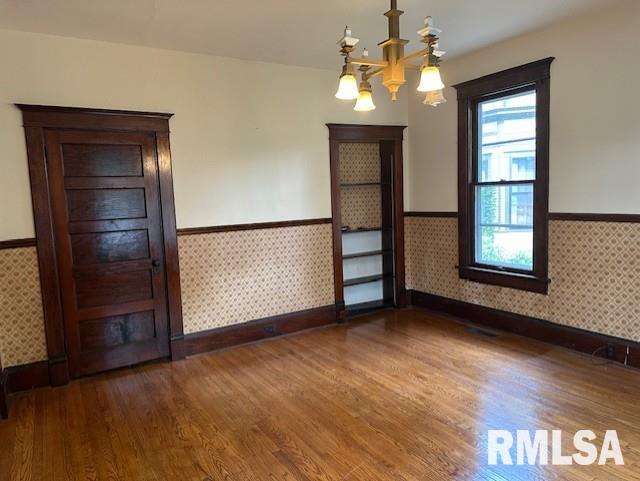
[(336, 313), (336, 306), (329, 305), (187, 334), (184, 337), (185, 353), (187, 356), (192, 356), (305, 329), (327, 326), (337, 321)]

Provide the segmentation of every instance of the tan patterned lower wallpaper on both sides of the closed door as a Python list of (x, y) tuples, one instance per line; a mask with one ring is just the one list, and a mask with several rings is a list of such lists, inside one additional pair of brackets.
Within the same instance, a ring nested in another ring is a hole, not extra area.
[[(186, 334), (333, 304), (331, 224), (181, 235)], [(35, 247), (0, 249), (3, 367), (47, 359)]]

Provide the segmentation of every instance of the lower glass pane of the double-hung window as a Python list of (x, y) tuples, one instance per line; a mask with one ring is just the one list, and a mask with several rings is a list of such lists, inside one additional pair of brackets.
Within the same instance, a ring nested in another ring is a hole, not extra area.
[(476, 187), (475, 262), (533, 270), (533, 184)]

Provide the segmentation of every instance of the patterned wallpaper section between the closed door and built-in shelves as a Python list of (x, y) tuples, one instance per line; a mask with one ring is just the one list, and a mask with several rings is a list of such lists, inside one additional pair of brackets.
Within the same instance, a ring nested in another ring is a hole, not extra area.
[(331, 224), (181, 235), (184, 332), (333, 304)]

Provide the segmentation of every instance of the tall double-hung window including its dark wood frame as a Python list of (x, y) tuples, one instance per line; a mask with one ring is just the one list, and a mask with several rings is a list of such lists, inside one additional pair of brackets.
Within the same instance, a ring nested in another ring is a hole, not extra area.
[(462, 278), (547, 292), (552, 61), (456, 85)]

